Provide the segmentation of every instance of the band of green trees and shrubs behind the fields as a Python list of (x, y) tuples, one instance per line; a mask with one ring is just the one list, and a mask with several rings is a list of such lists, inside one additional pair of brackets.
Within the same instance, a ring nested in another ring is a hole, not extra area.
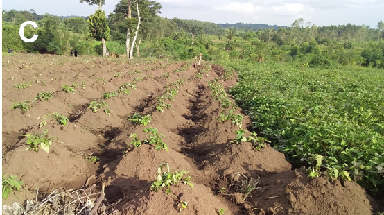
[[(68, 54), (71, 49), (77, 49), (80, 54), (116, 52), (127, 58), (167, 54), (182, 60), (200, 53), (204, 60), (252, 60), (263, 55), (266, 59), (302, 63), (317, 59), (321, 65), (332, 60), (343, 65), (384, 65), (382, 21), (377, 28), (370, 28), (355, 24), (316, 26), (300, 18), (289, 27), (267, 28), (261, 24), (168, 19), (160, 16), (161, 4), (149, 0), (121, 0), (109, 15), (102, 8), (105, 0), (79, 0), (79, 3), (99, 7), (89, 17), (69, 18), (37, 15), (33, 10), (3, 10), (3, 51), (13, 47), (19, 51)], [(33, 44), (17, 40), (19, 24), (26, 20), (40, 26), (26, 28), (27, 37), (33, 33), (39, 35)], [(260, 28), (255, 30), (258, 25)]]

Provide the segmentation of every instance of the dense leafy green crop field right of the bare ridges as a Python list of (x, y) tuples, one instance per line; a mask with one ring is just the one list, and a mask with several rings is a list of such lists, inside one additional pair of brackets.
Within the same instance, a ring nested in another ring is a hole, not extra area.
[[(384, 74), (376, 69), (299, 69), (230, 63), (241, 78), (230, 92), (252, 125), (293, 163), (384, 188)], [(343, 175), (341, 175), (343, 173)]]

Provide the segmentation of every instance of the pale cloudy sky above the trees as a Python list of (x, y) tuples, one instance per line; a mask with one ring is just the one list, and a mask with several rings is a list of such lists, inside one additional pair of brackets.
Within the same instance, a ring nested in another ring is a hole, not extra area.
[[(376, 28), (384, 20), (384, 0), (157, 0), (162, 17), (214, 23), (260, 23), (290, 26), (304, 18), (317, 26), (366, 24)], [(108, 14), (119, 0), (106, 0)], [(88, 16), (97, 6), (79, 0), (3, 0), (3, 10), (30, 10), (37, 14)]]

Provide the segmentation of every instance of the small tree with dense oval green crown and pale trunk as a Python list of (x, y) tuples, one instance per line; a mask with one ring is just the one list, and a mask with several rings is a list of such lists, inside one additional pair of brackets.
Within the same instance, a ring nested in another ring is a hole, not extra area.
[(108, 40), (110, 37), (110, 27), (107, 25), (105, 12), (101, 9), (96, 10), (95, 13), (89, 17), (87, 22), (89, 24), (89, 33), (91, 34), (91, 37), (102, 41), (104, 57), (107, 52), (105, 40)]

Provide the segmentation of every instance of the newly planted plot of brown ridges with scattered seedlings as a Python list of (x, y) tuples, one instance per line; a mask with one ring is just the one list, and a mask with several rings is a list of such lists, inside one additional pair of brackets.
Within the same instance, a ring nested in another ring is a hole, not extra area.
[(237, 80), (208, 62), (3, 56), (3, 214), (379, 212), (250, 132)]

